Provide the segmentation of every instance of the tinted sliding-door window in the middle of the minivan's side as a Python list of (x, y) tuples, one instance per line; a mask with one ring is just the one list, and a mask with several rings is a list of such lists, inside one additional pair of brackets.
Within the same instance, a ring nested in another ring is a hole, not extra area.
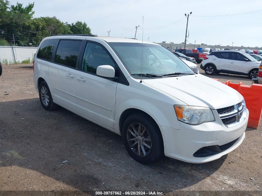
[(55, 62), (76, 68), (82, 41), (60, 40), (56, 50)]

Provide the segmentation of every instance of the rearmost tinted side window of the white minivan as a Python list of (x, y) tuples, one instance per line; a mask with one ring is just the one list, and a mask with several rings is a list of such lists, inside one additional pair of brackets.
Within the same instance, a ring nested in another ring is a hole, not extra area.
[(56, 39), (47, 39), (40, 45), (36, 57), (50, 61)]

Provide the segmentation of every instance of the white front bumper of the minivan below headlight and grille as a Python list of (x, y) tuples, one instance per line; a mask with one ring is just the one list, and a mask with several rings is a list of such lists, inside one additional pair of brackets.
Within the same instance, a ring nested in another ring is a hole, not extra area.
[[(232, 128), (227, 128), (219, 120), (199, 125), (179, 122), (179, 130), (159, 126), (162, 132), (165, 155), (189, 163), (206, 163), (219, 159), (221, 156), (236, 149), (243, 142), (248, 116), (249, 112), (246, 110), (246, 119)], [(220, 153), (207, 157), (193, 156), (196, 151), (205, 146), (222, 146), (237, 138), (239, 139), (233, 146)]]

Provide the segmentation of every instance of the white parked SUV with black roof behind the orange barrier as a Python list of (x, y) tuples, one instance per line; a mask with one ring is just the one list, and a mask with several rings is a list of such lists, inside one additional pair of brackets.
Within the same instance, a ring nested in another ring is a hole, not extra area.
[(230, 73), (257, 78), (260, 61), (239, 51), (214, 51), (206, 56), (200, 68), (207, 75)]

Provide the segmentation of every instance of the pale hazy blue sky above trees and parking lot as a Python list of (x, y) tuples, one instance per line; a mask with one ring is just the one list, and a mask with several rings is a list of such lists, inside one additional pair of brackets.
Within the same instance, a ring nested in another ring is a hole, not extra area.
[[(17, 0), (9, 0), (11, 5)], [(135, 37), (150, 42), (222, 46), (262, 46), (261, 0), (19, 0), (24, 6), (35, 2), (34, 17), (56, 16), (63, 22), (86, 22), (98, 36)], [(256, 12), (255, 12), (256, 11)], [(240, 14), (247, 13), (248, 14)], [(232, 15), (240, 14), (240, 15)], [(215, 16), (228, 15), (228, 16)], [(143, 25), (144, 16), (144, 25)]]

